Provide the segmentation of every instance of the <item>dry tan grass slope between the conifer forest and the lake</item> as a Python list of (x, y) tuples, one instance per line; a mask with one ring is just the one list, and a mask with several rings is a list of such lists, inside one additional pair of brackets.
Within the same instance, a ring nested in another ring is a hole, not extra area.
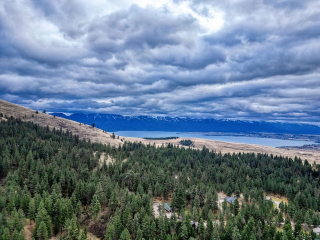
[[(121, 138), (115, 139), (111, 138), (111, 133), (103, 132), (101, 129), (92, 128), (89, 125), (80, 124), (79, 122), (68, 120), (61, 117), (53, 117), (52, 115), (48, 115), (45, 113), (41, 113), (42, 110), (38, 109), (38, 113), (35, 113), (35, 110), (13, 104), (8, 101), (4, 101), (0, 99), (0, 112), (3, 115), (13, 116), (15, 118), (20, 118), (24, 121), (33, 121), (38, 123), (41, 126), (48, 125), (50, 128), (55, 127), (57, 129), (62, 128), (62, 130), (72, 131), (73, 134), (78, 134), (80, 138), (90, 139), (90, 141), (94, 142), (101, 142), (114, 146), (118, 146), (121, 144)], [(153, 143), (155, 142), (156, 145), (161, 145), (162, 143), (173, 143), (179, 144), (179, 141), (184, 138), (178, 139), (171, 139), (171, 140), (146, 140), (142, 138), (134, 138), (134, 137), (124, 137), (125, 140), (130, 141), (141, 141), (144, 143)], [(213, 149), (215, 151), (221, 151), (221, 153), (233, 153), (233, 152), (260, 152), (260, 153), (267, 153), (273, 155), (282, 155), (288, 157), (298, 156), (301, 157), (302, 160), (307, 159), (309, 162), (313, 162), (314, 160), (317, 163), (320, 163), (320, 151), (318, 150), (301, 150), (301, 149), (282, 149), (276, 147), (269, 147), (269, 146), (262, 146), (262, 145), (255, 145), (255, 144), (244, 144), (244, 143), (233, 143), (233, 142), (223, 142), (223, 141), (214, 141), (214, 140), (207, 140), (201, 138), (190, 138), (194, 141), (195, 148), (202, 148), (203, 145), (210, 150)]]

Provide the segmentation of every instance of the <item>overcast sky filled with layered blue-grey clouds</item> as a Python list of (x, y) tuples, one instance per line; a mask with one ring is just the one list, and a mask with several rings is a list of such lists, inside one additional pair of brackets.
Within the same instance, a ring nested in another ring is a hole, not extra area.
[(320, 1), (1, 0), (0, 98), (320, 124)]

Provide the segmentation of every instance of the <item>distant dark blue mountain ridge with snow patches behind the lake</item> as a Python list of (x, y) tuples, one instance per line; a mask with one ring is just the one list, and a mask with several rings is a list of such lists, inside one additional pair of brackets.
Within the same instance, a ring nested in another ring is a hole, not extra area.
[(242, 121), (215, 118), (180, 118), (161, 116), (122, 116), (104, 113), (74, 113), (69, 116), (61, 112), (51, 115), (94, 125), (105, 131), (193, 131), (193, 132), (274, 132), (320, 134), (320, 126), (303, 123), (283, 123), (267, 121)]

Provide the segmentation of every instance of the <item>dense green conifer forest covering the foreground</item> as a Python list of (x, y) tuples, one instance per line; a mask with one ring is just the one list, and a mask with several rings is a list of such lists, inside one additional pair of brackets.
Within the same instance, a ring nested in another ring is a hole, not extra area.
[[(25, 239), (26, 224), (34, 239), (316, 239), (319, 164), (170, 143), (114, 147), (5, 118), (0, 240)], [(218, 192), (235, 200), (219, 204)], [(276, 207), (268, 193), (288, 202)], [(172, 216), (155, 217), (154, 201), (170, 202)]]

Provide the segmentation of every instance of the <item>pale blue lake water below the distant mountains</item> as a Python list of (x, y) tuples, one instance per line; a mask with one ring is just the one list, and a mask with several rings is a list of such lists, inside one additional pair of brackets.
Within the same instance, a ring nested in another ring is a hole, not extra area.
[(179, 136), (179, 137), (189, 137), (189, 138), (203, 138), (216, 141), (226, 141), (226, 142), (238, 142), (238, 143), (248, 143), (248, 144), (258, 144), (264, 146), (302, 146), (305, 144), (318, 144), (313, 141), (306, 140), (284, 140), (276, 138), (265, 138), (265, 137), (249, 137), (249, 136), (211, 136), (202, 135), (200, 133), (179, 133), (171, 131), (115, 131), (114, 134), (119, 136), (127, 137), (169, 137), (169, 136)]

